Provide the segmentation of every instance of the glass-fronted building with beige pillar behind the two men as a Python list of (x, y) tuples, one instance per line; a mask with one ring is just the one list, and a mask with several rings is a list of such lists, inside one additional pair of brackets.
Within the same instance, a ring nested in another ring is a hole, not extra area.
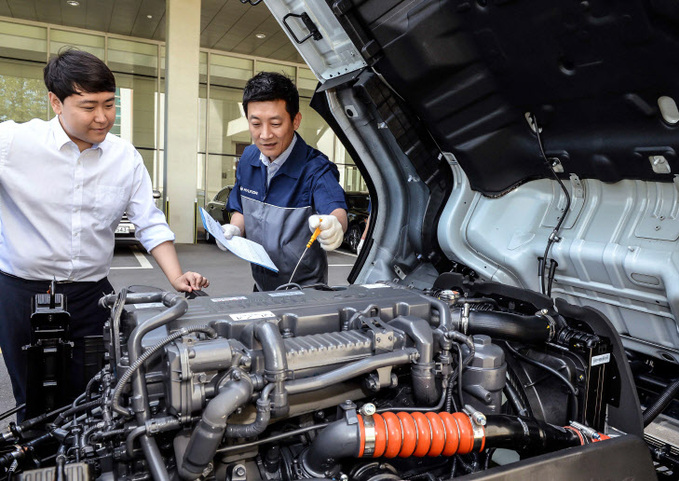
[(144, 158), (177, 242), (201, 238), (198, 208), (234, 182), (239, 155), (250, 144), (242, 88), (257, 72), (277, 71), (295, 81), (300, 134), (337, 164), (345, 190), (366, 190), (342, 144), (308, 105), (314, 75), (263, 4), (0, 1), (0, 121), (54, 115), (42, 70), (50, 55), (68, 46), (93, 53), (114, 72), (112, 133)]

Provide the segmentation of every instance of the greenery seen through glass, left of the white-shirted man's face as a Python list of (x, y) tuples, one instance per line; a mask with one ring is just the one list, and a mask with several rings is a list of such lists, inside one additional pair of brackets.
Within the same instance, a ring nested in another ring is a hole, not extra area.
[(0, 75), (0, 122), (26, 122), (47, 115), (47, 92), (42, 80)]

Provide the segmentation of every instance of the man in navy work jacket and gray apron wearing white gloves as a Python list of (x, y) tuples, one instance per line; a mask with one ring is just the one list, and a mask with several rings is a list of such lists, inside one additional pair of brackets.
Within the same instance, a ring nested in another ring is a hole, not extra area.
[[(326, 284), (325, 251), (337, 249), (347, 229), (337, 167), (295, 132), (302, 114), (297, 88), (289, 78), (272, 72), (255, 75), (245, 85), (243, 110), (254, 145), (245, 149), (238, 163), (227, 203), (233, 213), (230, 223), (222, 226), (224, 235), (246, 236), (262, 244), (278, 267), (275, 273), (252, 264), (256, 289), (273, 290), (289, 282)], [(318, 242), (297, 266), (317, 227)]]

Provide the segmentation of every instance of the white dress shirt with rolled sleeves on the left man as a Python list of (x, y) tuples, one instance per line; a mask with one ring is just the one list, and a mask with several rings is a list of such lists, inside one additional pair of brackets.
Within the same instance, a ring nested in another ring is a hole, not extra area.
[(129, 142), (108, 134), (80, 152), (58, 117), (0, 123), (0, 270), (23, 279), (108, 275), (123, 212), (146, 250), (174, 240)]

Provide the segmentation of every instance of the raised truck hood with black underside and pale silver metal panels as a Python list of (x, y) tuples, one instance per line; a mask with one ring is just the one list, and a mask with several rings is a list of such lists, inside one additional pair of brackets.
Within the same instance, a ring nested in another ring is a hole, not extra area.
[(371, 232), (350, 281), (463, 295), (483, 285), (495, 300), (520, 289), (561, 313), (596, 312), (622, 340), (642, 406), (672, 385), (673, 2), (265, 3), (370, 186)]

